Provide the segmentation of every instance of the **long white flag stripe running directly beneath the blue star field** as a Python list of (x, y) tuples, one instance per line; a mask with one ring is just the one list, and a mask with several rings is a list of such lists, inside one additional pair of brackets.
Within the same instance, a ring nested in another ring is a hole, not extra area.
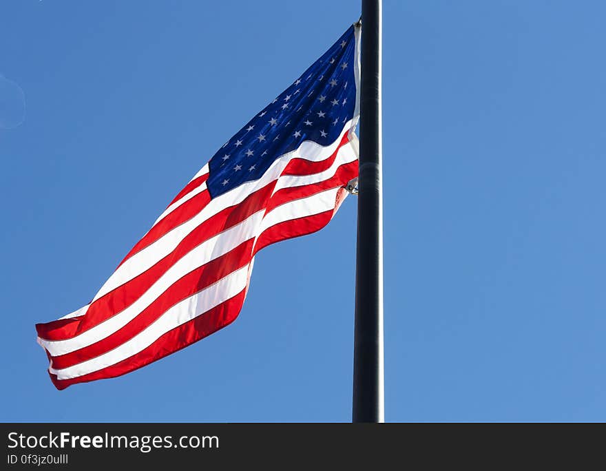
[(118, 286), (135, 278), (137, 275), (156, 264), (159, 260), (171, 253), (188, 233), (193, 231), (208, 218), (211, 218), (226, 207), (238, 205), (244, 198), (249, 196), (249, 194), (268, 185), (269, 182), (278, 179), (292, 158), (304, 158), (305, 160), (315, 162), (325, 160), (331, 156), (337, 145), (341, 142), (345, 132), (348, 132), (349, 124), (350, 123), (348, 122), (339, 135), (339, 138), (330, 145), (323, 147), (313, 141), (306, 140), (298, 149), (276, 159), (259, 180), (243, 183), (239, 187), (213, 198), (202, 211), (194, 216), (194, 218), (191, 218), (171, 231), (168, 231), (161, 238), (152, 242), (144, 249), (141, 249), (121, 264), (121, 266), (118, 266), (116, 271), (112, 273), (95, 295), (93, 301), (98, 300), (98, 298), (109, 293), (109, 291), (116, 289)]

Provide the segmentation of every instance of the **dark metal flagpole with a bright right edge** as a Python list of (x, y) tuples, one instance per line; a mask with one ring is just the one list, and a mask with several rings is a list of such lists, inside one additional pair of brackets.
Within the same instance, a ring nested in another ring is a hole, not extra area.
[(353, 421), (384, 421), (381, 0), (362, 0)]

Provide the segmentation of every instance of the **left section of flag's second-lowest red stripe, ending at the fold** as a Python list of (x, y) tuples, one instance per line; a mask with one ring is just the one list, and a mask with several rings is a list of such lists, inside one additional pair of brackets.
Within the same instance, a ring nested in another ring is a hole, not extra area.
[(85, 362), (87, 359), (98, 357), (132, 339), (132, 337), (147, 328), (149, 324), (156, 321), (158, 317), (178, 302), (202, 291), (211, 284), (218, 282), (221, 278), (229, 275), (229, 273), (249, 264), (252, 258), (253, 242), (254, 240), (250, 239), (220, 258), (216, 258), (200, 266), (198, 269), (187, 273), (187, 275), (184, 275), (158, 296), (147, 308), (136, 315), (133, 320), (111, 335), (79, 350), (53, 357), (53, 368), (67, 368), (68, 366)]

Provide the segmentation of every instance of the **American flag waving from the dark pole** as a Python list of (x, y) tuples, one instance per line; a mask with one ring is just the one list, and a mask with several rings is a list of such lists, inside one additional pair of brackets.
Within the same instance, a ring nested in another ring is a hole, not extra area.
[(156, 361), (236, 319), (255, 254), (322, 229), (358, 173), (359, 25), (198, 171), (93, 300), (36, 324), (58, 389)]

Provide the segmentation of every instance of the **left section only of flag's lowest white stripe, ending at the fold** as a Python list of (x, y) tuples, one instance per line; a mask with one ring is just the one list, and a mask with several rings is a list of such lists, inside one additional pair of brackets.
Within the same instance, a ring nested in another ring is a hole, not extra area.
[(103, 353), (103, 355), (61, 370), (52, 367), (48, 370), (50, 373), (57, 375), (57, 379), (70, 379), (92, 373), (132, 357), (132, 355), (153, 344), (168, 331), (185, 324), (185, 322), (198, 317), (198, 315), (240, 293), (246, 287), (247, 275), (248, 266), (243, 266), (238, 271), (222, 278), (213, 286), (209, 286), (207, 289), (175, 304), (144, 331), (117, 348)]

